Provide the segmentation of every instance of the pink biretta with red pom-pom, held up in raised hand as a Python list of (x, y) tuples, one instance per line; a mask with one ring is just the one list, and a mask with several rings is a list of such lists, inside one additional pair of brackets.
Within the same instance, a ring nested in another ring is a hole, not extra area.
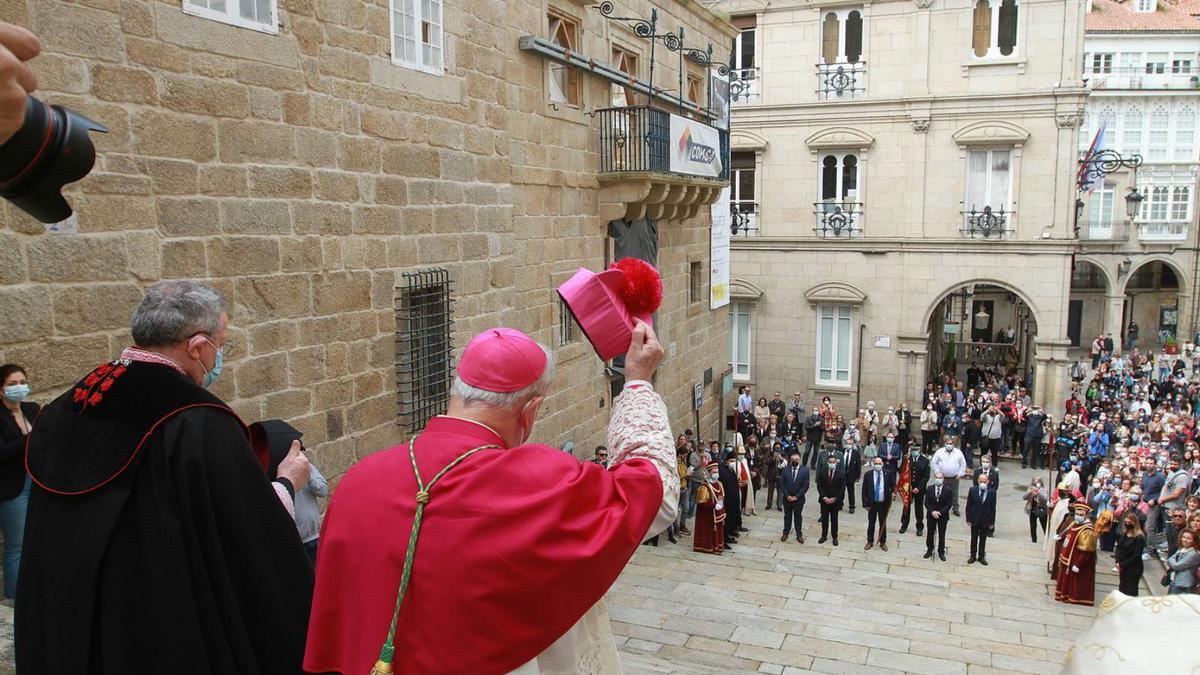
[(662, 279), (654, 265), (622, 258), (599, 274), (580, 268), (558, 294), (596, 354), (608, 360), (629, 351), (635, 319), (652, 323), (662, 304)]

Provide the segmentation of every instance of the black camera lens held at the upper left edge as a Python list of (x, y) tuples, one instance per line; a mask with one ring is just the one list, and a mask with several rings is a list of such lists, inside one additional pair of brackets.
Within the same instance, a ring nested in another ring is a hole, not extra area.
[(89, 131), (108, 131), (61, 106), (25, 98), (25, 123), (0, 145), (0, 197), (42, 222), (71, 215), (62, 186), (88, 175), (96, 163)]

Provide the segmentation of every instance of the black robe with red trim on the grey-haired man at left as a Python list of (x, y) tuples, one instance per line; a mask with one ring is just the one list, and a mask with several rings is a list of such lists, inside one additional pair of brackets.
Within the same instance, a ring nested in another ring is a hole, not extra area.
[(42, 411), (26, 466), (19, 673), (300, 673), (312, 571), (220, 399), (106, 364)]

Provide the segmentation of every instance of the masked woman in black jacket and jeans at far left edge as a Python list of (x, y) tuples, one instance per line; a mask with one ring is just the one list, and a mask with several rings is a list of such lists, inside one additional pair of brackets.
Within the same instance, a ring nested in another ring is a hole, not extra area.
[(22, 540), (25, 537), (25, 509), (29, 506), (29, 474), (25, 473), (25, 436), (34, 428), (41, 408), (28, 401), (29, 378), (16, 364), (0, 365), (0, 532), (4, 533), (4, 596), (8, 604), (17, 598)]

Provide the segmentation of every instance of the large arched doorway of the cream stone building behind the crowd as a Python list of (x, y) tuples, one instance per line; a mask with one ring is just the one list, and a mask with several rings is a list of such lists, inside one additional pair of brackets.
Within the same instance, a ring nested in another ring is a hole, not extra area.
[(928, 330), (926, 382), (954, 377), (971, 388), (1009, 375), (1030, 382), (1037, 319), (1018, 293), (988, 282), (960, 286), (935, 305)]

